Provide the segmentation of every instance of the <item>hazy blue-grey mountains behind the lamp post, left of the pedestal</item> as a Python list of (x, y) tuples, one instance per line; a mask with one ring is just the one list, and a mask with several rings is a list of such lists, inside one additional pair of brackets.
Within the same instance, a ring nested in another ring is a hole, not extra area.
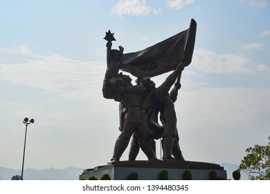
[[(25, 169), (25, 180), (78, 180), (83, 168), (49, 168), (44, 170)], [(21, 170), (0, 167), (0, 180), (10, 180), (14, 175), (21, 175)]]

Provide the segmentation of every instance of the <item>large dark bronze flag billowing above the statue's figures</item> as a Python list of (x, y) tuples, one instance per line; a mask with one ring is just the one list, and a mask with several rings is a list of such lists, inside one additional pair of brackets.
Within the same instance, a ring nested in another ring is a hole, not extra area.
[(172, 71), (182, 60), (185, 67), (192, 60), (197, 23), (190, 21), (190, 28), (153, 46), (134, 53), (125, 53), (120, 70), (136, 77), (154, 77)]

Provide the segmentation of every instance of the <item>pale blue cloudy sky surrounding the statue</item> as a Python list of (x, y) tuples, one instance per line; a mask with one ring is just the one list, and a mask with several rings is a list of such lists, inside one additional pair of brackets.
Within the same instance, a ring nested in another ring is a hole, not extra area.
[(267, 0), (0, 0), (0, 166), (21, 168), (25, 117), (24, 168), (107, 164), (120, 132), (118, 103), (102, 96), (105, 32), (136, 52), (190, 19), (195, 51), (175, 103), (183, 157), (239, 165), (270, 135), (269, 18)]

